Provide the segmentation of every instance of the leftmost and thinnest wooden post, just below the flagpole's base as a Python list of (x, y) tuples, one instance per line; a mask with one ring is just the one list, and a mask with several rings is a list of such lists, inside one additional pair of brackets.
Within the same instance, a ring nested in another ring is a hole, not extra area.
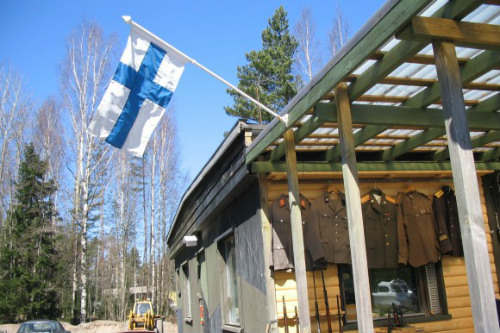
[(286, 172), (288, 178), (288, 201), (290, 202), (290, 223), (292, 226), (293, 259), (297, 300), (299, 309), (300, 332), (311, 332), (309, 297), (307, 293), (306, 258), (302, 232), (302, 213), (300, 211), (299, 180), (297, 174), (297, 153), (293, 130), (287, 130), (285, 139)]

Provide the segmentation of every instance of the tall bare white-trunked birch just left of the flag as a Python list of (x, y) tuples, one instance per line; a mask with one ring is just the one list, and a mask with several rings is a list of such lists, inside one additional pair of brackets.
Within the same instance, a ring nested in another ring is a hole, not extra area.
[(73, 312), (77, 310), (78, 292), (82, 321), (87, 317), (87, 241), (91, 213), (98, 206), (100, 180), (106, 175), (111, 157), (109, 146), (90, 136), (87, 127), (111, 78), (114, 45), (114, 38), (103, 36), (97, 24), (83, 22), (68, 37), (61, 71), (63, 107), (71, 122), (68, 168), (74, 177), (72, 222), (79, 240), (74, 253)]

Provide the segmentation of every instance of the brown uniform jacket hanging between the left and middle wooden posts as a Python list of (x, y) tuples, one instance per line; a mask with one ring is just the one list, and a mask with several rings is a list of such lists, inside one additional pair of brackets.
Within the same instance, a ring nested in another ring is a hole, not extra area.
[(351, 262), (349, 229), (343, 193), (323, 193), (313, 201), (308, 230), (308, 250), (315, 267), (326, 262)]

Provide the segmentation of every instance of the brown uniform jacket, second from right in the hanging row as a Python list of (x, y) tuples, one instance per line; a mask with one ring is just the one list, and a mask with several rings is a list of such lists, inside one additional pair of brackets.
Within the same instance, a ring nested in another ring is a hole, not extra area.
[(400, 194), (398, 212), (399, 263), (420, 267), (439, 260), (432, 202), (423, 193)]

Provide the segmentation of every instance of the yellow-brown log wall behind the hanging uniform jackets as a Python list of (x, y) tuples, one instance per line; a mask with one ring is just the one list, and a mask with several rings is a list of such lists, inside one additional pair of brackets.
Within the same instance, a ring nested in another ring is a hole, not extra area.
[[(443, 186), (449, 185), (453, 188), (451, 176), (446, 180), (428, 180), (421, 181), (418, 179), (408, 181), (395, 182), (392, 180), (384, 181), (360, 181), (360, 190), (362, 195), (367, 193), (373, 188), (382, 190), (385, 194), (397, 197), (398, 192), (404, 191), (409, 185), (413, 186), (417, 191), (422, 192), (432, 198), (432, 196), (439, 191)], [(481, 178), (478, 177), (480, 184), (481, 205), (484, 219), (484, 228), (486, 232), (486, 239), (488, 242), (488, 253), (491, 262), (492, 280), (495, 290), (495, 297), (499, 298), (498, 278), (496, 274), (495, 262), (493, 257), (492, 238), (490, 235), (490, 228), (488, 226), (487, 208), (484, 200), (484, 192), (481, 186)], [(311, 182), (310, 179), (299, 184), (300, 192), (309, 200), (314, 200), (319, 197), (329, 187), (343, 192), (343, 184), (340, 179), (332, 182)], [(276, 200), (280, 194), (287, 193), (288, 188), (286, 183), (282, 182), (269, 182), (268, 183), (268, 203), (269, 206)], [(467, 284), (467, 275), (465, 268), (465, 261), (463, 257), (444, 256), (441, 260), (443, 281), (446, 291), (446, 303), (448, 314), (451, 315), (449, 320), (441, 321), (428, 321), (423, 323), (413, 323), (411, 326), (416, 327), (418, 332), (443, 332), (443, 333), (472, 333), (474, 332), (472, 309), (469, 297), (469, 290)], [(288, 317), (289, 332), (297, 332), (295, 327), (295, 307), (297, 306), (297, 291), (295, 284), (294, 272), (275, 271), (273, 273), (275, 290), (276, 290), (276, 308), (278, 315), (279, 332), (284, 333), (284, 316), (283, 316), (283, 297), (285, 299), (286, 312)], [(338, 316), (337, 316), (337, 299), (336, 296), (341, 294), (340, 283), (338, 277), (337, 265), (329, 264), (327, 270), (324, 271), (325, 284), (328, 292), (328, 303), (330, 306), (331, 324), (334, 332), (339, 331)], [(323, 286), (321, 274), (319, 271), (315, 273), (316, 278), (316, 295), (320, 313), (321, 332), (328, 332), (326, 320), (326, 308), (323, 296)], [(313, 273), (307, 272), (307, 285), (308, 285), (308, 298), (310, 304), (311, 314), (311, 329), (316, 331), (315, 319), (315, 297), (313, 288)], [(355, 319), (355, 308), (348, 307), (345, 309), (347, 316)], [(343, 312), (343, 314), (345, 313)], [(432, 318), (429, 318), (432, 320)], [(377, 332), (382, 328), (377, 328)], [(347, 328), (346, 328), (347, 331)], [(384, 331), (382, 329), (382, 331)], [(387, 328), (385, 328), (385, 331)], [(349, 332), (357, 332), (357, 330), (349, 330)]]

